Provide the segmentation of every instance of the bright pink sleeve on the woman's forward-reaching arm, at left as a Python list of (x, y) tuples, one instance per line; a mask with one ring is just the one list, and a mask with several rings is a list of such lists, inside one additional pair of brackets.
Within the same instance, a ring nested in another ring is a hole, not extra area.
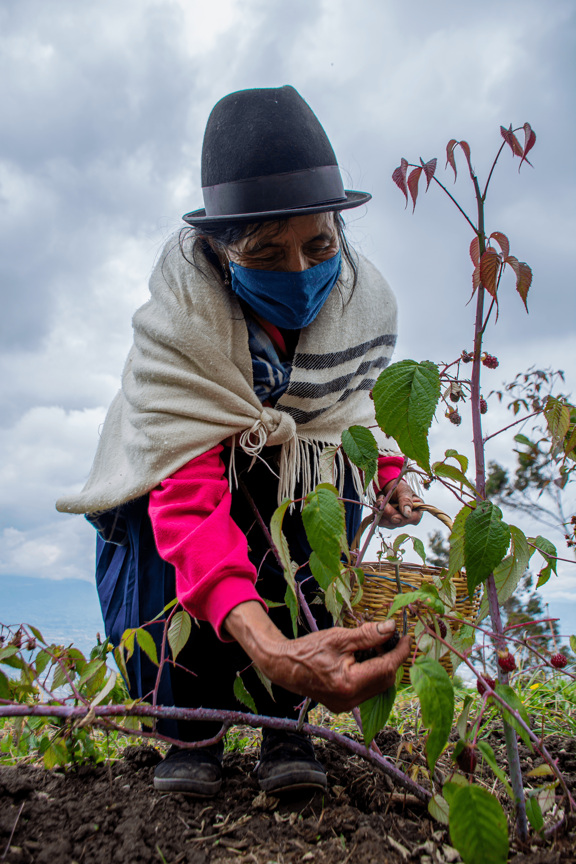
[(176, 596), (194, 618), (209, 621), (218, 638), (238, 603), (258, 600), (248, 543), (231, 518), (222, 445), (197, 456), (150, 492), (156, 548), (174, 564)]

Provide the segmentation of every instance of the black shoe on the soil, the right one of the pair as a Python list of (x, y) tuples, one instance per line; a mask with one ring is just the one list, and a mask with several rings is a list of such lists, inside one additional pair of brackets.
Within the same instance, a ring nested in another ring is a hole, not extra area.
[(326, 789), (326, 772), (314, 759), (310, 735), (263, 729), (258, 783), (265, 792)]

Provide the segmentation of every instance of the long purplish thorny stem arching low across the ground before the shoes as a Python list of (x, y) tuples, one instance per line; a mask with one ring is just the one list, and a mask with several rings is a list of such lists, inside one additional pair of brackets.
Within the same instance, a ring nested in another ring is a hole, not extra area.
[[(156, 706), (154, 708), (151, 705), (133, 705), (131, 708), (128, 708), (125, 705), (97, 705), (93, 710), (96, 715), (96, 722), (98, 723), (104, 722), (106, 718), (112, 716), (156, 717), (168, 720), (219, 721), (228, 725), (235, 724), (253, 728), (286, 729), (293, 732), (296, 730), (296, 721), (294, 720), (282, 717), (267, 717), (258, 714), (243, 714), (240, 711), (225, 711), (215, 708), (171, 708), (168, 706)], [(74, 707), (72, 705), (7, 705), (5, 708), (0, 708), (0, 716), (2, 717), (36, 716), (82, 720), (87, 713), (88, 708), (85, 706)], [(125, 734), (142, 735), (140, 729), (127, 729), (124, 727), (121, 727), (121, 729)], [(402, 786), (408, 792), (412, 792), (424, 804), (427, 804), (432, 797), (432, 792), (415, 783), (414, 780), (407, 777), (404, 772), (384, 759), (383, 756), (378, 756), (373, 750), (368, 750), (364, 745), (358, 744), (357, 741), (348, 738), (346, 735), (341, 735), (338, 732), (334, 732), (333, 729), (326, 729), (323, 726), (312, 726), (310, 723), (303, 724), (302, 732), (327, 741), (333, 741), (345, 747), (351, 753), (368, 759), (373, 765), (380, 768), (384, 774), (388, 774), (397, 785)], [(157, 733), (148, 733), (148, 737), (159, 738), (161, 736)], [(206, 746), (206, 741), (180, 741), (174, 739), (174, 743), (182, 748), (190, 749)]]

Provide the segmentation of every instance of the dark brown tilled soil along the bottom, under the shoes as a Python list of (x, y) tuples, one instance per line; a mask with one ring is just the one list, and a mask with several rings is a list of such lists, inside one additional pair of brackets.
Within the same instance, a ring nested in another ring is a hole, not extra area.
[[(488, 739), (502, 759), (502, 735)], [(385, 729), (377, 738), (384, 754), (425, 766), (421, 743)], [(398, 757), (398, 749), (402, 746)], [(412, 745), (412, 753), (409, 746)], [(576, 740), (550, 736), (568, 784), (576, 787)], [(408, 747), (407, 747), (408, 746)], [(364, 760), (341, 747), (315, 741), (326, 767), (325, 793), (293, 793), (278, 800), (260, 793), (253, 771), (258, 747), (225, 753), (224, 782), (218, 796), (198, 800), (154, 790), (154, 767), (161, 753), (129, 746), (111, 766), (80, 766), (75, 771), (46, 771), (20, 765), (0, 768), (0, 861), (9, 864), (396, 864), (404, 861), (459, 861), (446, 826), (434, 823), (417, 799)], [(520, 746), (522, 771), (541, 759)], [(530, 764), (527, 759), (532, 758)], [(504, 763), (505, 764), (505, 763)], [(440, 777), (451, 770), (446, 754)], [(530, 778), (525, 778), (530, 784)], [(545, 778), (544, 778), (545, 779)], [(541, 785), (542, 778), (533, 780)], [(424, 774), (419, 782), (426, 785)], [(481, 778), (498, 795), (501, 785), (484, 767)], [(505, 798), (500, 797), (504, 806)], [(560, 802), (560, 797), (557, 798)], [(16, 823), (16, 816), (20, 817)], [(510, 815), (510, 814), (509, 814)], [(555, 816), (558, 821), (558, 816)], [(568, 820), (569, 821), (569, 820)], [(16, 823), (5, 858), (2, 854)], [(566, 820), (557, 835), (543, 842), (531, 836), (527, 848), (511, 837), (515, 864), (576, 861), (574, 825)]]

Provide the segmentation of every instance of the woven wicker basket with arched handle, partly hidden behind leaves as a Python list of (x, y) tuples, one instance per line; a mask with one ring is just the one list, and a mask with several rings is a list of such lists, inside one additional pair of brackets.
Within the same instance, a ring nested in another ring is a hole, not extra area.
[[(445, 524), (447, 528), (452, 530), (452, 521), (450, 517), (446, 516), (446, 513), (438, 510), (437, 507), (429, 504), (416, 504), (414, 509), (429, 512), (437, 519), (440, 519), (440, 522)], [(371, 516), (364, 519), (364, 522), (360, 525), (360, 528), (358, 529), (358, 534), (356, 535), (356, 537), (354, 537), (354, 542), (351, 546), (352, 550), (358, 548), (360, 544), (360, 538), (362, 537), (364, 530), (366, 530), (366, 528), (371, 522)], [(359, 613), (370, 614), (372, 620), (374, 621), (383, 621), (386, 619), (386, 616), (388, 614), (389, 604), (392, 602), (392, 600), (394, 600), (396, 594), (398, 594), (398, 588), (396, 584), (396, 567), (394, 564), (381, 564), (378, 562), (363, 562), (361, 566), (365, 575), (364, 593), (362, 595), (362, 600), (360, 600), (360, 602), (357, 606), (354, 607), (354, 609), (356, 612)], [(399, 567), (402, 591), (414, 591), (416, 588), (420, 588), (422, 582), (431, 582), (433, 581), (433, 575), (438, 575), (440, 573), (440, 567), (424, 567), (419, 566), (418, 564), (406, 564), (402, 562)], [(456, 575), (453, 576), (453, 583), (456, 588), (456, 601), (452, 611), (460, 613), (468, 619), (475, 618), (478, 614), (478, 608), (480, 606), (480, 588), (477, 588), (471, 602), (468, 596), (468, 588), (466, 586), (465, 575), (462, 575), (460, 572), (456, 573)], [(402, 632), (402, 609), (399, 610), (394, 617), (396, 619), (398, 629)], [(407, 618), (408, 633), (414, 635), (414, 628), (418, 619), (415, 617), (415, 615), (411, 615), (409, 612)], [(355, 621), (351, 617), (351, 615), (347, 613), (344, 618), (344, 626), (356, 627), (358, 626), (358, 624), (357, 621)], [(451, 628), (453, 632), (456, 632), (459, 629), (459, 626), (451, 622)], [(416, 651), (416, 657), (418, 657), (420, 654), (421, 651)], [(443, 657), (440, 658), (440, 664), (444, 666), (448, 675), (453, 674), (453, 666), (450, 661), (450, 656), (450, 652), (448, 651)], [(410, 683), (409, 668), (410, 663), (405, 663), (402, 683)]]

